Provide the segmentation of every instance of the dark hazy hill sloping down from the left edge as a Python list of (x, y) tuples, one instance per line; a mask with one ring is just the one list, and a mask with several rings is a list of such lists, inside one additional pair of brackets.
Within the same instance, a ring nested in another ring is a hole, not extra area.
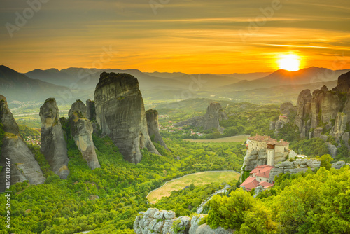
[(48, 97), (60, 98), (59, 93), (69, 89), (59, 85), (34, 80), (6, 66), (0, 66), (0, 93), (10, 101), (43, 102)]

